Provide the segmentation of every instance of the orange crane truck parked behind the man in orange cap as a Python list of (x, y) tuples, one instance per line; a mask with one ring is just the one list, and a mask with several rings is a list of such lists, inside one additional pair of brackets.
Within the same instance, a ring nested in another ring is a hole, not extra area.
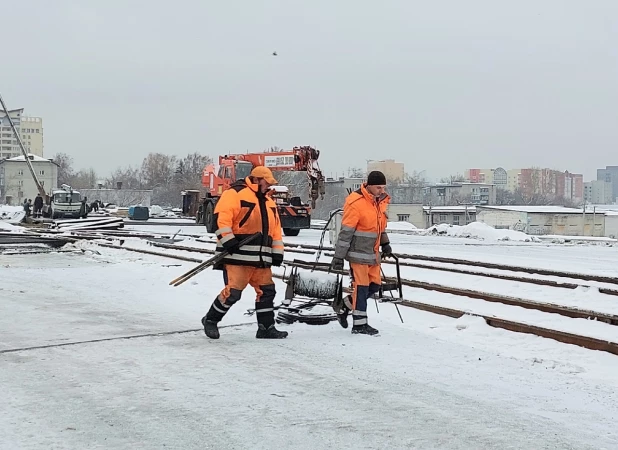
[(202, 173), (206, 196), (200, 201), (196, 222), (203, 223), (206, 231), (214, 233), (214, 210), (221, 194), (237, 180), (248, 177), (256, 166), (265, 166), (273, 171), (304, 171), (311, 184), (311, 205), (303, 203), (300, 197), (291, 196), (287, 186), (273, 186), (269, 194), (277, 203), (283, 233), (298, 236), (301, 229), (310, 228), (311, 210), (315, 208), (318, 197), (324, 199), (324, 175), (318, 165), (319, 156), (319, 150), (308, 146), (219, 156), (219, 169), (209, 165)]

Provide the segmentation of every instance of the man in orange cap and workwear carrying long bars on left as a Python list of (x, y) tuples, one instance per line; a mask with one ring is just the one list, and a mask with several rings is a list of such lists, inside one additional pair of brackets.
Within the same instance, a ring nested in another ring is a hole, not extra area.
[[(232, 184), (222, 195), (214, 210), (217, 224), (216, 254), (229, 252), (215, 269), (223, 270), (225, 287), (202, 318), (206, 336), (219, 339), (217, 324), (230, 307), (240, 300), (243, 290), (251, 285), (256, 292), (258, 339), (282, 339), (287, 331), (275, 328), (275, 283), (271, 266), (283, 262), (281, 221), (277, 205), (266, 195), (277, 184), (270, 169), (255, 167), (244, 180)], [(239, 242), (254, 233), (260, 237), (239, 247)]]

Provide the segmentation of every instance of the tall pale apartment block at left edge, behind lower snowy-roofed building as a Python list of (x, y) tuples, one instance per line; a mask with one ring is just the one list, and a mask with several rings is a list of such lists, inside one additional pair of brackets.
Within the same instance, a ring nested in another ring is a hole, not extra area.
[[(17, 128), (26, 152), (43, 156), (43, 119), (24, 116), (24, 109), (12, 109), (9, 116)], [(0, 160), (23, 156), (7, 113), (0, 110)]]

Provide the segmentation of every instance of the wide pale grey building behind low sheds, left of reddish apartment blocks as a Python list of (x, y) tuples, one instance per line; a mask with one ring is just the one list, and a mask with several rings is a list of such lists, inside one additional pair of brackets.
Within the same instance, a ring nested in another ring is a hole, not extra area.
[(495, 205), (496, 186), (469, 182), (427, 186), (423, 188), (423, 203), (433, 206)]

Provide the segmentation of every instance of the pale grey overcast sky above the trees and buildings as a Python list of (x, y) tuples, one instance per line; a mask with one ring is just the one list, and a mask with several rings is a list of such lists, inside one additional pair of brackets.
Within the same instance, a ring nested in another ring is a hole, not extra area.
[(102, 175), (274, 145), (327, 175), (618, 164), (616, 0), (30, 0), (0, 27), (8, 107)]

